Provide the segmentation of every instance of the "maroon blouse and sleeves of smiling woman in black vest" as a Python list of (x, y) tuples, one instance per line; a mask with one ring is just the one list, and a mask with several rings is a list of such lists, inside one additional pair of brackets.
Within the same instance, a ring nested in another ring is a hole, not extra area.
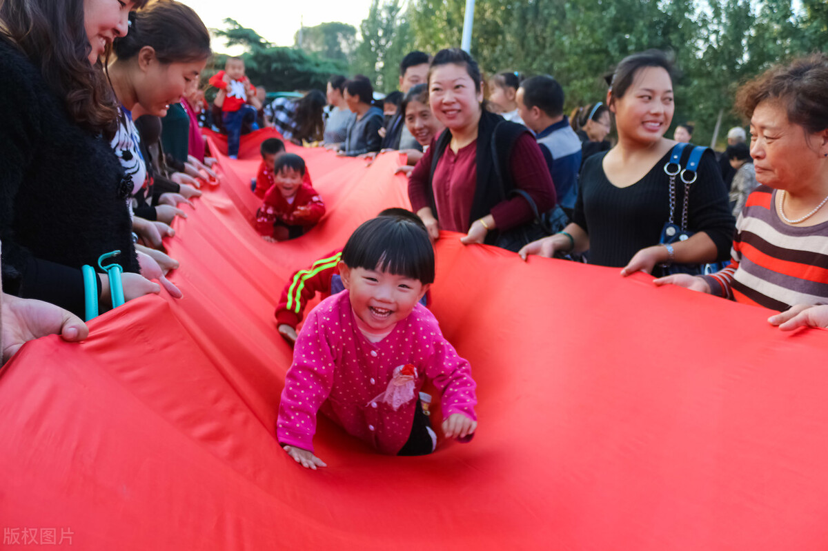
[[(476, 149), (476, 143), (477, 142), (475, 141), (474, 144), (467, 147), (474, 146)], [(411, 199), (412, 209), (414, 212), (431, 205), (431, 200), (426, 194), (426, 183), (428, 182), (428, 175), (431, 172), (431, 161), (433, 159), (432, 154), (435, 151), (435, 144), (436, 140), (431, 141), (431, 146), (420, 158), (420, 161), (417, 162), (408, 180), (408, 195)], [(465, 151), (467, 147), (461, 149), (458, 153), (462, 155), (463, 151)], [(450, 148), (446, 147), (443, 156), (441, 156), (440, 160), (437, 161), (437, 166), (435, 167), (435, 177), (433, 180), (435, 198), (437, 197), (436, 189), (440, 185), (440, 182), (437, 179), (437, 173), (441, 172), (440, 165), (447, 162), (445, 161), (445, 156), (450, 153)], [(545, 210), (548, 210), (548, 208), (555, 205), (555, 186), (552, 184), (552, 178), (549, 175), (549, 169), (546, 168), (546, 161), (543, 160), (543, 154), (537, 146), (537, 142), (530, 134), (523, 134), (521, 137), (517, 138), (517, 141), (515, 141), (515, 145), (512, 150), (512, 157), (509, 160), (509, 167), (512, 170), (513, 184), (515, 187), (524, 189), (528, 194), (530, 194), (532, 198), (535, 199), (537, 208), (541, 212), (544, 212)], [(449, 174), (454, 172), (453, 178), (455, 179), (455, 182), (452, 185), (460, 184), (461, 181), (465, 182), (466, 185), (468, 184), (468, 180), (460, 178), (458, 170), (455, 169), (452, 171), (445, 168), (442, 170), (445, 170), (446, 173)], [(477, 170), (475, 167), (474, 174), (476, 175), (476, 173)], [(444, 195), (444, 199), (449, 199), (452, 204), (440, 205), (437, 201), (435, 203), (437, 204), (438, 213), (442, 210), (450, 209), (452, 225), (457, 223), (465, 223), (465, 228), (460, 229), (458, 227), (455, 230), (465, 233), (469, 231), (469, 226), (471, 225), (470, 223), (474, 221), (469, 220), (471, 202), (468, 201), (468, 196), (466, 195), (469, 192), (464, 184), (460, 184), (459, 188), (463, 189), (463, 196), (461, 196), (460, 199), (449, 194), (447, 196)], [(473, 193), (471, 197), (474, 199)], [(468, 206), (466, 206), (467, 204)], [(460, 211), (460, 208), (464, 208), (464, 210)], [(532, 220), (533, 216), (532, 208), (529, 206), (526, 199), (523, 199), (522, 197), (514, 197), (513, 199), (508, 199), (494, 205), (491, 209), (491, 214), (494, 218), (495, 225), (500, 229), (514, 228), (515, 226)], [(440, 219), (440, 228), (447, 229), (448, 226), (444, 226), (443, 219), (440, 218), (439, 215), (438, 219)]]

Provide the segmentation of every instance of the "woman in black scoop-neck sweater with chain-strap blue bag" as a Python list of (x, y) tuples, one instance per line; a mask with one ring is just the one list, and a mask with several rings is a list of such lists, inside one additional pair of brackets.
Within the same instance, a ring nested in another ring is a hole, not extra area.
[[(622, 275), (659, 275), (662, 264), (700, 264), (729, 256), (734, 218), (710, 150), (701, 157), (689, 194), (687, 229), (695, 234), (670, 246), (658, 244), (670, 214), (664, 165), (676, 145), (664, 137), (674, 108), (671, 70), (665, 56), (655, 50), (630, 55), (619, 64), (607, 94), (618, 145), (585, 162), (573, 222), (563, 232), (523, 247), (522, 258), (589, 250), (590, 264), (623, 267)], [(676, 181), (676, 212), (681, 218), (683, 185)]]

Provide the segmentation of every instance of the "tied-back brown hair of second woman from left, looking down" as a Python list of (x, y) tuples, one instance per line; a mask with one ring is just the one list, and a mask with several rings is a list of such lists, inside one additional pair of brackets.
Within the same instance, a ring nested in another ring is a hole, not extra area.
[[(127, 36), (113, 41), (119, 60), (137, 55), (144, 46), (155, 50), (161, 63), (189, 63), (212, 55), (209, 32), (189, 6), (174, 0), (158, 0), (147, 9), (131, 13)], [(236, 59), (236, 58), (233, 58)]]

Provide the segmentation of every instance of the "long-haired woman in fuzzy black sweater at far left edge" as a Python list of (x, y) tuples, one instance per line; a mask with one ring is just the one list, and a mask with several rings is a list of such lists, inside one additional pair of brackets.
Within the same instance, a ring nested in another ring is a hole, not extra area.
[[(0, 3), (3, 289), (76, 314), (80, 267), (97, 269), (107, 252), (120, 251), (126, 299), (160, 290), (137, 274), (130, 186), (108, 144), (117, 105), (98, 60), (143, 2), (85, 3), (86, 12), (84, 0)], [(94, 283), (109, 304), (108, 276)]]

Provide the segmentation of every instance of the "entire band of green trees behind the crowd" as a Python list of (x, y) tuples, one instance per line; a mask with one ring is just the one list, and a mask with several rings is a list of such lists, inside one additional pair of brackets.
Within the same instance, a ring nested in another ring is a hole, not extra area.
[[(407, 6), (407, 9), (404, 7)], [(459, 46), (465, 0), (373, 0), (356, 30), (323, 23), (302, 30), (302, 49), (277, 48), (232, 19), (216, 31), (243, 55), (255, 84), (271, 90), (325, 89), (330, 74), (365, 74), (375, 89), (397, 88), (410, 50)], [(710, 143), (726, 129), (741, 82), (778, 61), (828, 51), (826, 0), (476, 0), (471, 52), (484, 74), (552, 74), (566, 108), (603, 100), (604, 77), (625, 55), (659, 48), (676, 60), (674, 123), (695, 122)], [(217, 66), (224, 65), (222, 59)]]

